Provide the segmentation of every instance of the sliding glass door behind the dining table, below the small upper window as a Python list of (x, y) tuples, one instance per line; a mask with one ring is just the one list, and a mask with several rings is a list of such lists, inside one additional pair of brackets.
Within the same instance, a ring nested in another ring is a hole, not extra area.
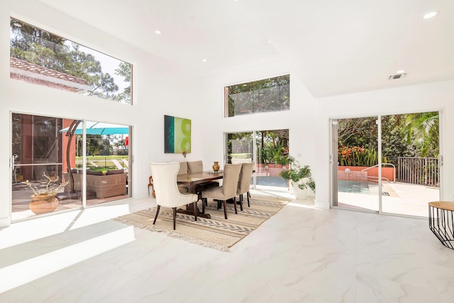
[(269, 130), (226, 134), (226, 163), (255, 162), (253, 188), (288, 189), (279, 173), (288, 168), (279, 159), (289, 152), (289, 131)]

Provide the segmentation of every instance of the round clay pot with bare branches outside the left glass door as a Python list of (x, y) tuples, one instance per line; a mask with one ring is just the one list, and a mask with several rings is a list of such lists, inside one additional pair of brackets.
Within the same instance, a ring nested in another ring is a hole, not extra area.
[[(50, 177), (46, 175), (45, 172), (43, 172), (43, 176), (48, 180), (45, 189), (38, 189), (38, 187), (29, 180), (26, 180), (25, 182), (33, 191), (31, 202), (28, 206), (35, 214), (45, 214), (54, 211), (59, 203), (58, 199), (55, 197), (58, 190), (68, 184), (68, 182), (56, 183), (58, 182), (58, 177)], [(57, 184), (57, 186), (52, 186), (54, 183)]]

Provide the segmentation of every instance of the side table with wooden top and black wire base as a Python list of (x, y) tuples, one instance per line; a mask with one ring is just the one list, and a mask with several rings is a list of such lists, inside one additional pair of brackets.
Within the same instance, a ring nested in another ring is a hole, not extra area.
[(454, 249), (454, 202), (429, 202), (428, 226), (444, 246)]

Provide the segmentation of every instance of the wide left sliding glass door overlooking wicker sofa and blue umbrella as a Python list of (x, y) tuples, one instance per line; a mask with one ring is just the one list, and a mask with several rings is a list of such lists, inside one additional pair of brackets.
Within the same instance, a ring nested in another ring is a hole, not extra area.
[(129, 126), (18, 113), (11, 121), (13, 221), (131, 197)]

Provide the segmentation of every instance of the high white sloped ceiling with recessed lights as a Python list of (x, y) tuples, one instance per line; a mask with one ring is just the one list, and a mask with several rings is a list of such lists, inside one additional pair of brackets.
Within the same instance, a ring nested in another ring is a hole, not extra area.
[(285, 60), (314, 97), (454, 79), (453, 0), (39, 1), (202, 77)]

